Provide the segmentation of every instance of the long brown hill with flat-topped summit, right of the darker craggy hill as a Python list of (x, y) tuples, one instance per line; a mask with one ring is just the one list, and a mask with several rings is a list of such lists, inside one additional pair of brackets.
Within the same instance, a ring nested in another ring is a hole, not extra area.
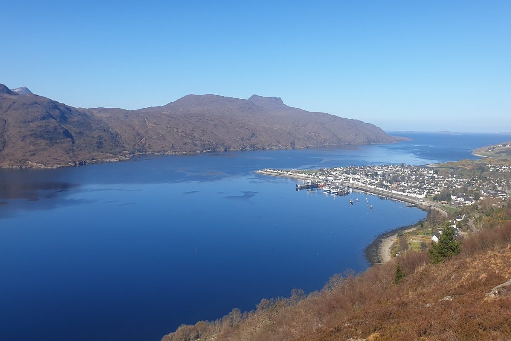
[[(255, 100), (257, 98), (257, 100)], [(91, 109), (134, 151), (285, 149), (391, 143), (396, 139), (361, 121), (291, 108), (280, 99), (189, 95), (161, 107)]]

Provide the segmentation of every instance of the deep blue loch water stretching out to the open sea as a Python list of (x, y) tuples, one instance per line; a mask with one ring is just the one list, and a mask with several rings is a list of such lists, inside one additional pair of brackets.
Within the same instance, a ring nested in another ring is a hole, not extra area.
[(295, 191), (256, 175), (474, 158), (509, 135), (394, 133), (393, 145), (148, 156), (0, 170), (0, 339), (159, 340), (180, 323), (368, 266), (364, 248), (423, 211), (365, 195)]

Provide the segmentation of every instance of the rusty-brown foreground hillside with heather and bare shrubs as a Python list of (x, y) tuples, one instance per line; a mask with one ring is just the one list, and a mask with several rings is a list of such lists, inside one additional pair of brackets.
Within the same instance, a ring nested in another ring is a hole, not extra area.
[[(395, 284), (397, 261), (406, 277)], [(294, 290), (290, 298), (262, 300), (255, 311), (182, 325), (162, 341), (509, 340), (509, 279), (505, 221), (466, 238), (450, 261), (430, 264), (426, 252), (407, 252), (358, 276), (334, 276), (307, 297)]]

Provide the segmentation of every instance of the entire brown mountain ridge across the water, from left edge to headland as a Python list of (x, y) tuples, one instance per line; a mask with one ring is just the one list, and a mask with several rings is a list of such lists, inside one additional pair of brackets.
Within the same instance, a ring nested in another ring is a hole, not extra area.
[(375, 125), (289, 107), (276, 97), (188, 95), (164, 106), (125, 110), (74, 108), (21, 93), (0, 86), (0, 166), (60, 167), (135, 153), (398, 141)]

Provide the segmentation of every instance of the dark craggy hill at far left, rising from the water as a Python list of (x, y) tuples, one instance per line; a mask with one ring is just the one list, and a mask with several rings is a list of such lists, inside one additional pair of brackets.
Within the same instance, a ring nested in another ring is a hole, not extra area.
[(116, 157), (123, 149), (119, 134), (85, 110), (36, 95), (0, 93), (0, 166), (69, 166)]

